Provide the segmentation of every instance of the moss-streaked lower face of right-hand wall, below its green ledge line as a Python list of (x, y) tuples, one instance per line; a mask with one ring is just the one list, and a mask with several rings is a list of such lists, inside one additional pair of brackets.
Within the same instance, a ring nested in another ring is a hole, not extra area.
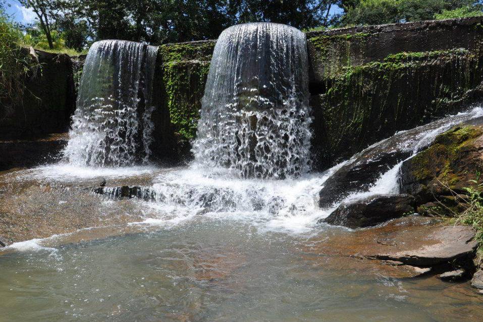
[(341, 156), (346, 158), (397, 130), (452, 113), (481, 81), (479, 50), (401, 52), (382, 62), (343, 67), (325, 80), (328, 90), (319, 98), (329, 136), (325, 149), (330, 154), (350, 147)]

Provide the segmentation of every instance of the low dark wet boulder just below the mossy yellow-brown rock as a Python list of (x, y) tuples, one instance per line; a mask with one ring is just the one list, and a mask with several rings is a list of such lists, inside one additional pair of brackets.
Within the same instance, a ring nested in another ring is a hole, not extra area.
[(374, 195), (362, 200), (342, 203), (324, 222), (360, 228), (375, 226), (412, 212), (414, 212), (414, 197), (410, 195)]

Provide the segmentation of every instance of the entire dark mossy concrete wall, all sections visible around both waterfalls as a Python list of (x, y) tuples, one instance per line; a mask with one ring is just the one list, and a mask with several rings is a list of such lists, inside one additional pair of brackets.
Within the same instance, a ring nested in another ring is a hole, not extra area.
[[(307, 41), (316, 170), (483, 97), (482, 17), (308, 32)], [(215, 43), (159, 47), (152, 149), (161, 162), (190, 157)], [(82, 60), (38, 56), (42, 73), (2, 116), (0, 138), (68, 129)]]

